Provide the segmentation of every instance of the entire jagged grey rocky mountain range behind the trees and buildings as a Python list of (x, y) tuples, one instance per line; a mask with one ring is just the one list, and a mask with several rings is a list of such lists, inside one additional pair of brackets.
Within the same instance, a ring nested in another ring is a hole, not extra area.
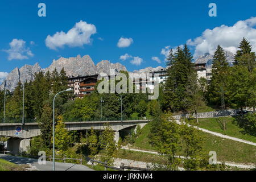
[[(233, 53), (226, 51), (226, 57), (230, 65), (233, 62)], [(196, 59), (195, 63), (206, 63), (208, 68), (212, 66), (213, 55), (209, 53), (201, 55)], [(13, 91), (18, 82), (31, 81), (34, 79), (35, 73), (42, 71), (50, 73), (56, 68), (57, 72), (60, 72), (64, 68), (67, 72), (67, 76), (76, 77), (76, 76), (85, 76), (85, 75), (96, 75), (98, 73), (107, 73), (110, 74), (110, 69), (114, 69), (115, 72), (127, 71), (126, 67), (120, 63), (110, 63), (108, 60), (102, 60), (96, 65), (89, 55), (76, 57), (64, 58), (60, 57), (58, 60), (53, 60), (52, 64), (48, 68), (41, 68), (38, 63), (35, 65), (24, 65), (21, 68), (15, 68), (9, 73), (6, 77), (6, 89)], [(144, 69), (134, 70), (133, 73), (149, 73), (151, 71), (159, 71), (164, 69), (163, 67), (147, 67)], [(0, 85), (0, 90), (4, 89), (3, 83)]]

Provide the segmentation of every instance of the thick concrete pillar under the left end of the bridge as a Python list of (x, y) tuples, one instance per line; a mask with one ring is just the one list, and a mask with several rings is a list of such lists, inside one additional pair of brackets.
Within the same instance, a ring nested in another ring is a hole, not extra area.
[(30, 139), (9, 138), (7, 140), (7, 151), (13, 152), (13, 154), (26, 152), (28, 151), (29, 147), (30, 147)]

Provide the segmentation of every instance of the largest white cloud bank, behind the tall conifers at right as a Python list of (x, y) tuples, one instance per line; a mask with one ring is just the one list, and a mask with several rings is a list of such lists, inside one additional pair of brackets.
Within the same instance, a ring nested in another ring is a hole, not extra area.
[(253, 51), (256, 51), (256, 17), (240, 20), (233, 26), (221, 25), (212, 30), (207, 29), (203, 34), (195, 39), (187, 40), (189, 46), (195, 47), (194, 57), (210, 53), (213, 55), (218, 45), (226, 51), (236, 53), (243, 37), (249, 40)]

